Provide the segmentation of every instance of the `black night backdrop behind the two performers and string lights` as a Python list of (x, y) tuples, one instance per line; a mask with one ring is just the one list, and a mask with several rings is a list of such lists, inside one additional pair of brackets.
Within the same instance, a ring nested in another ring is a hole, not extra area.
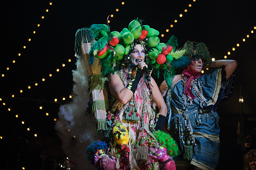
[[(180, 47), (187, 40), (204, 42), (211, 57), (216, 60), (224, 59), (227, 52), (231, 52), (227, 59), (235, 59), (238, 63), (236, 86), (231, 98), (217, 110), (221, 117), (217, 170), (242, 169), (243, 153), (238, 126), (241, 121), (241, 105), (238, 102), (240, 87), (244, 99), (243, 135), (251, 136), (251, 145), (245, 148), (244, 154), (256, 149), (256, 0), (128, 0), (124, 1), (124, 5), (119, 0), (61, 0), (51, 1), (51, 6), (49, 2), (1, 2), (0, 73), (4, 74), (0, 77), (1, 170), (21, 170), (24, 166), (27, 170), (40, 170), (40, 154), (45, 144), (51, 145), (54, 153), (47, 158), (46, 169), (53, 169), (51, 163), (54, 159), (63, 160), (65, 155), (60, 151), (61, 141), (54, 130), (54, 118), (58, 118), (60, 105), (70, 100), (68, 96), (72, 92), (72, 70), (76, 68), (75, 33), (92, 24), (106, 24), (109, 14), (114, 14), (109, 19), (111, 31), (121, 32), (130, 21), (139, 17), (145, 20), (144, 25), (155, 28), (160, 35), (164, 34), (164, 37), (159, 36), (161, 42), (166, 43), (171, 35), (178, 38)], [(115, 11), (116, 8), (119, 12)], [(188, 9), (187, 13), (185, 9)], [(178, 22), (174, 23), (174, 20)], [(37, 27), (37, 24), (40, 26)], [(171, 28), (170, 24), (174, 27)], [(168, 33), (166, 29), (169, 29)], [(31, 41), (28, 41), (29, 38)], [(237, 47), (236, 43), (240, 46)], [(232, 51), (232, 47), (236, 50)], [(18, 53), (21, 55), (18, 56)], [(56, 72), (56, 68), (60, 72)], [(49, 77), (49, 73), (53, 76)], [(43, 82), (42, 78), (46, 80)], [(157, 82), (160, 84), (162, 79)], [(27, 88), (28, 85), (31, 89)], [(54, 102), (54, 98), (58, 101)], [(42, 110), (40, 106), (43, 106)], [(15, 118), (16, 114), (18, 118)], [(21, 124), (23, 120), (25, 124)], [(27, 131), (28, 127), (30, 131)], [(38, 134), (36, 139), (35, 133)]]

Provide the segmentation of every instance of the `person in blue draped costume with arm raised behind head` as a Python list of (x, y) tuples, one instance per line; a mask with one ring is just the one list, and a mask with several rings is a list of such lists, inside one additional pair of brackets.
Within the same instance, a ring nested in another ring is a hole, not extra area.
[[(215, 170), (219, 158), (219, 116), (216, 108), (232, 94), (235, 60), (212, 61), (204, 43), (187, 41), (184, 56), (191, 60), (182, 74), (160, 86), (169, 111), (168, 129), (179, 141), (177, 169)], [(201, 75), (205, 67), (218, 68)]]

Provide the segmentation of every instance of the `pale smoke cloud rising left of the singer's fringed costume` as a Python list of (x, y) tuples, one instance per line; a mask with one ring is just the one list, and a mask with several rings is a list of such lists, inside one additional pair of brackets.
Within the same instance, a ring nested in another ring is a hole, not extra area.
[(76, 163), (76, 170), (94, 170), (96, 168), (84, 154), (89, 144), (102, 137), (95, 134), (95, 118), (87, 111), (90, 100), (88, 75), (83, 58), (80, 55), (77, 58), (77, 68), (72, 71), (73, 101), (61, 105), (55, 129), (61, 139), (63, 152)]

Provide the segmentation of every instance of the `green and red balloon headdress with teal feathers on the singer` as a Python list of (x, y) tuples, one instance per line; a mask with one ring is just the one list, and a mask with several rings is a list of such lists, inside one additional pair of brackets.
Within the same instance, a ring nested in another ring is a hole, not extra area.
[(177, 50), (178, 41), (175, 36), (172, 36), (167, 44), (160, 43), (159, 31), (148, 25), (142, 25), (142, 21), (138, 19), (131, 21), (128, 28), (123, 28), (121, 32), (110, 32), (109, 26), (104, 24), (94, 24), (90, 30), (95, 41), (89, 52), (89, 63), (94, 63), (94, 56), (100, 59), (103, 76), (114, 74), (121, 68), (128, 67), (131, 70), (130, 53), (136, 44), (144, 47), (146, 53), (144, 62), (157, 76), (162, 72), (165, 77), (173, 78), (175, 68), (190, 63), (188, 58), (182, 57), (185, 50)]

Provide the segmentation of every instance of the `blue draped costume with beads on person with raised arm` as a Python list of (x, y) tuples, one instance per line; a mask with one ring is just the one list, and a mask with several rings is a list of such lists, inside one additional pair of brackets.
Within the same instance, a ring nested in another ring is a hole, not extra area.
[[(168, 125), (184, 157), (175, 159), (176, 166), (184, 166), (185, 159), (203, 170), (215, 170), (219, 157), (219, 116), (217, 106), (232, 94), (235, 76), (226, 80), (224, 67), (201, 77), (186, 76), (167, 93), (170, 112)], [(186, 87), (191, 89), (186, 89)], [(186, 92), (188, 91), (188, 92)], [(184, 95), (185, 92), (185, 95)], [(189, 158), (189, 147), (193, 155)], [(192, 158), (192, 159), (191, 159)], [(189, 160), (189, 161), (190, 161)]]

